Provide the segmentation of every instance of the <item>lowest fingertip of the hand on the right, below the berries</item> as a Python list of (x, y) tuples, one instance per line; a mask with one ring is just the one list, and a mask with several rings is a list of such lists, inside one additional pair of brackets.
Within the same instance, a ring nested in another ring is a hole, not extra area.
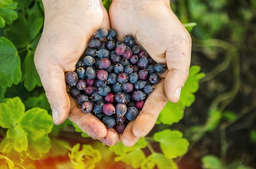
[(134, 146), (134, 144), (136, 144), (137, 141), (140, 139), (133, 134), (132, 132), (133, 125), (134, 125), (134, 121), (130, 121), (126, 126), (125, 131), (122, 134), (122, 137), (120, 138), (124, 146), (128, 146), (128, 147)]

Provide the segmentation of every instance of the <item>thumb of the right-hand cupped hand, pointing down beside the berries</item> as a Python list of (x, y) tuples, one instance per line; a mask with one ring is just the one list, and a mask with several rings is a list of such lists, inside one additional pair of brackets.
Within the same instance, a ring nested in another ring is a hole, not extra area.
[[(181, 25), (182, 26), (182, 25)], [(183, 88), (188, 76), (191, 58), (191, 42), (189, 33), (183, 28), (179, 37), (186, 38), (174, 41), (166, 51), (166, 62), (169, 72), (165, 79), (165, 92), (167, 98), (177, 103), (180, 99), (180, 91)]]

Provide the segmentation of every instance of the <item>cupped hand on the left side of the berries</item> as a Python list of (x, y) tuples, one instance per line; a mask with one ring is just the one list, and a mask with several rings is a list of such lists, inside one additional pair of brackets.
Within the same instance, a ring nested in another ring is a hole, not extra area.
[(96, 6), (101, 0), (93, 1), (93, 6), (89, 6), (90, 2), (61, 0), (56, 4), (43, 1), (44, 30), (42, 42), (35, 51), (35, 67), (40, 74), (43, 72), (41, 82), (52, 108), (54, 124), (62, 124), (68, 117), (90, 137), (112, 145), (119, 141), (119, 135), (107, 129), (91, 113), (82, 113), (76, 100), (66, 92), (64, 73), (76, 70), (87, 40), (97, 28), (110, 28), (107, 11)]

